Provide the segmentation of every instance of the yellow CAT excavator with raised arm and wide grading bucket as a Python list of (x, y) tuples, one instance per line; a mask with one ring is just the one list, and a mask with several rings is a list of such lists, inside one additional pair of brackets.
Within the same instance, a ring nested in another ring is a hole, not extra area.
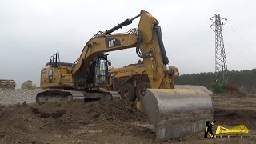
[[(127, 33), (113, 34), (140, 18), (138, 28)], [(156, 141), (177, 138), (205, 129), (213, 118), (211, 98), (202, 90), (174, 89), (174, 73), (162, 42), (161, 28), (150, 13), (142, 10), (134, 18), (99, 31), (86, 42), (77, 62), (59, 61), (54, 54), (41, 71), (41, 87), (48, 89), (37, 94), (36, 101), (90, 102), (120, 99), (118, 91), (110, 86), (109, 61), (106, 52), (136, 47), (143, 58), (150, 89), (140, 98), (150, 122), (156, 131)]]

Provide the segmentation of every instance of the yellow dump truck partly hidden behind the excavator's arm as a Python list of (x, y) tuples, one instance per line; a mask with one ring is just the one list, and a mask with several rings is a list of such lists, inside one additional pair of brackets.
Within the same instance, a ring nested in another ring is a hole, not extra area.
[[(179, 71), (175, 66), (168, 66), (168, 70), (174, 78), (178, 78)], [(130, 64), (122, 68), (110, 68), (110, 87), (123, 94), (122, 98), (130, 101), (138, 100), (146, 94), (146, 89), (151, 88), (146, 66), (139, 61), (137, 64)], [(134, 87), (135, 90), (132, 90)]]

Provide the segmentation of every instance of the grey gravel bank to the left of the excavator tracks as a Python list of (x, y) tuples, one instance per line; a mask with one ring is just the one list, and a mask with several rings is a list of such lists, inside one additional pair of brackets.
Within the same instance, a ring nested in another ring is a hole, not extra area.
[(35, 97), (41, 89), (36, 90), (0, 90), (0, 106), (13, 105), (26, 101), (35, 102)]

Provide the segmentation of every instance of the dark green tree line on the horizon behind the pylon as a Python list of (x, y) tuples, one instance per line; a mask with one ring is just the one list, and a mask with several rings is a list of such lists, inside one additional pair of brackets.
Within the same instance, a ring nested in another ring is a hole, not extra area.
[[(228, 71), (228, 83), (238, 86), (246, 93), (256, 93), (256, 70), (232, 70)], [(215, 82), (216, 74), (213, 72), (205, 72), (198, 74), (182, 74), (175, 84), (177, 85), (199, 85), (205, 86), (211, 90), (212, 84)]]

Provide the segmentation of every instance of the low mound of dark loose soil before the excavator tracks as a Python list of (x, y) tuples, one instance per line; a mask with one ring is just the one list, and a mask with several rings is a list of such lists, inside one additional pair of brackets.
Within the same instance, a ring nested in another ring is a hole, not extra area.
[(97, 101), (97, 102), (66, 102), (45, 103), (30, 106), (34, 114), (41, 118), (62, 117), (61, 120), (74, 120), (81, 118), (84, 122), (91, 121), (145, 121), (146, 116), (134, 107), (122, 101)]

